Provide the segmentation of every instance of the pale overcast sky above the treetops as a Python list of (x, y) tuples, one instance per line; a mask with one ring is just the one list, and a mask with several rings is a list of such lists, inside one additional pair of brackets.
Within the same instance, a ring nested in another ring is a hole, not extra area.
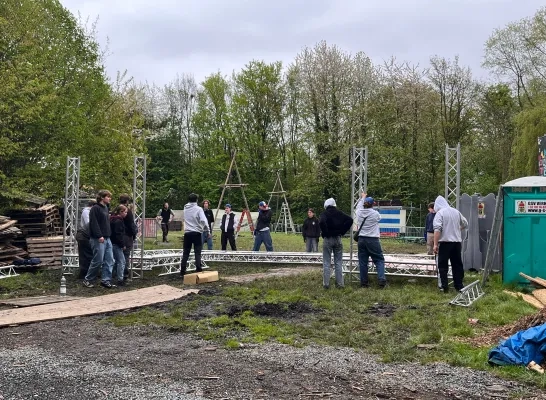
[(231, 75), (249, 61), (291, 63), (326, 40), (364, 51), (375, 63), (428, 65), (452, 58), (486, 78), (480, 64), (494, 29), (532, 16), (544, 0), (61, 0), (74, 15), (98, 18), (108, 74), (163, 85), (176, 74)]

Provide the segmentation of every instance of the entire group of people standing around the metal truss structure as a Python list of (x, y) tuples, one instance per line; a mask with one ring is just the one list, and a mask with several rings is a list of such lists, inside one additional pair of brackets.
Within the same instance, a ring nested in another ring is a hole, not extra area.
[[(90, 201), (82, 211), (80, 228), (77, 231), (80, 279), (83, 285), (91, 288), (99, 273), (100, 285), (114, 288), (125, 285), (128, 278), (128, 261), (137, 235), (131, 198), (127, 194), (119, 197), (119, 205), (110, 213), (112, 194), (108, 190), (99, 191), (96, 200)], [(204, 200), (199, 206), (199, 198), (192, 193), (184, 206), (184, 245), (180, 274), (184, 276), (188, 259), (193, 247), (196, 272), (201, 272), (201, 250), (206, 243), (212, 250), (212, 227), (214, 217), (210, 201)], [(330, 268), (332, 258), (335, 271), (335, 284), (344, 287), (343, 281), (343, 244), (341, 238), (354, 226), (353, 237), (358, 242), (358, 264), (360, 286), (367, 288), (368, 262), (371, 258), (377, 271), (379, 288), (385, 288), (385, 258), (380, 243), (379, 221), (381, 215), (373, 208), (374, 199), (362, 193), (355, 215), (356, 221), (339, 210), (336, 201), (329, 198), (324, 202), (324, 212), (320, 218), (313, 209), (307, 211), (307, 218), (302, 227), (302, 236), (307, 252), (317, 252), (319, 238), (322, 238), (323, 252), (323, 286), (330, 288)], [(258, 204), (258, 219), (254, 229), (253, 251), (259, 251), (262, 243), (266, 251), (273, 251), (271, 239), (272, 211), (265, 201)], [(157, 219), (161, 223), (163, 242), (168, 242), (169, 222), (174, 213), (165, 203), (159, 210)], [(429, 254), (438, 255), (438, 271), (441, 290), (448, 291), (448, 264), (451, 262), (453, 283), (457, 291), (463, 288), (464, 269), (461, 259), (461, 230), (468, 227), (467, 220), (447, 201), (438, 196), (429, 204), (429, 215), (426, 220), (427, 247)], [(225, 205), (225, 213), (220, 224), (221, 247), (237, 251), (235, 243), (235, 214), (231, 205)], [(114, 284), (114, 282), (116, 282)]]

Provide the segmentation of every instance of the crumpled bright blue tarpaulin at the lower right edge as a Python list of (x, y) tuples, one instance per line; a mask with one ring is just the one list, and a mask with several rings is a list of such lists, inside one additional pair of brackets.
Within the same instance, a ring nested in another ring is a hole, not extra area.
[(510, 336), (489, 351), (489, 363), (496, 365), (542, 364), (546, 352), (546, 324)]

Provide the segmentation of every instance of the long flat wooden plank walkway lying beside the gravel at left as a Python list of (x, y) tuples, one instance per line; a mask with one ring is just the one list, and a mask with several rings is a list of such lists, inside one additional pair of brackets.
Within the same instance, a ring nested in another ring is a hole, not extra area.
[(199, 290), (183, 290), (168, 285), (159, 285), (107, 294), (104, 296), (88, 297), (64, 303), (4, 310), (0, 311), (0, 326), (28, 324), (39, 321), (51, 321), (54, 319), (128, 310), (175, 300), (187, 296), (190, 293), (199, 293)]

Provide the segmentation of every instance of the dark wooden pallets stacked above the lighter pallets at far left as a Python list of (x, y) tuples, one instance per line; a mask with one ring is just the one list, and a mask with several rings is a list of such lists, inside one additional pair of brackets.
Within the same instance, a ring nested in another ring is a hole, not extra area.
[(27, 237), (58, 236), (63, 233), (61, 215), (55, 204), (11, 210), (8, 215), (17, 220), (16, 226)]

